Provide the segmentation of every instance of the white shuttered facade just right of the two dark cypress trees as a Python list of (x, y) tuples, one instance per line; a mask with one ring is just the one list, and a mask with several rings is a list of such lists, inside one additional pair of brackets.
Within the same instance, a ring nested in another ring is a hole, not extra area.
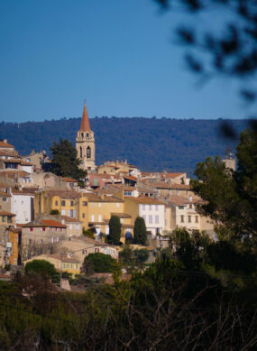
[(161, 234), (165, 228), (165, 205), (139, 204), (139, 216), (143, 217), (146, 230), (153, 236)]

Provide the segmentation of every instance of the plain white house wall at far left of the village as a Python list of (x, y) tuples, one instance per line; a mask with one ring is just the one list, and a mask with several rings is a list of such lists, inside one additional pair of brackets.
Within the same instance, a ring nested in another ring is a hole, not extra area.
[(33, 220), (32, 194), (12, 194), (11, 211), (16, 215), (15, 223), (25, 224)]

